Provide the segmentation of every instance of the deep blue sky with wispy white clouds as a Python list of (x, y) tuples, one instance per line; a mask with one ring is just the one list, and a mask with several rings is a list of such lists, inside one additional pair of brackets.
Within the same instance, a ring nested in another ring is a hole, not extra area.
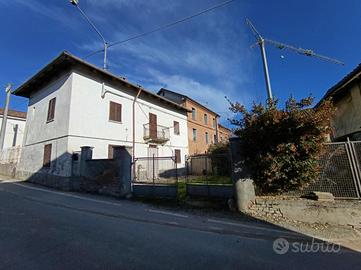
[[(107, 41), (115, 42), (197, 13), (224, 0), (80, 0)], [(283, 103), (290, 95), (324, 93), (361, 62), (359, 0), (237, 0), (204, 14), (109, 49), (109, 71), (148, 90), (165, 87), (208, 106), (227, 125), (224, 98), (246, 106), (264, 102), (262, 60), (250, 18), (266, 38), (345, 62), (335, 65), (266, 46), (272, 90)], [(85, 57), (102, 48), (96, 33), (68, 0), (0, 0), (0, 87), (14, 89), (62, 51)], [(87, 58), (102, 67), (102, 54)], [(0, 106), (5, 91), (0, 89)], [(27, 110), (12, 96), (10, 107)]]

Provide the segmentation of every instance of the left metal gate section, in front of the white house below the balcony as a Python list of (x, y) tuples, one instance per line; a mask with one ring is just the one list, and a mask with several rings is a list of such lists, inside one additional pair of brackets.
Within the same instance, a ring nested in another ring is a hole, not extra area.
[(175, 157), (140, 157), (134, 159), (133, 183), (177, 184)]

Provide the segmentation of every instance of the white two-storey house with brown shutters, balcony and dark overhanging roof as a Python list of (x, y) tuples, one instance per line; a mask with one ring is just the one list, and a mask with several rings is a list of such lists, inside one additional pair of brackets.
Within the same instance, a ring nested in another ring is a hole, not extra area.
[(20, 164), (23, 178), (46, 171), (73, 175), (72, 159), (82, 146), (93, 158), (112, 157), (124, 146), (133, 159), (188, 154), (187, 110), (68, 52), (61, 53), (21, 85), (29, 98)]

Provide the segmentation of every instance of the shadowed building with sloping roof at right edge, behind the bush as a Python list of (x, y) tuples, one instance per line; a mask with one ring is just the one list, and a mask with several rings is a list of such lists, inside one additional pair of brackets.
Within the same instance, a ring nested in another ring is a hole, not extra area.
[[(361, 140), (361, 64), (330, 88), (321, 101), (332, 98), (336, 114), (332, 119), (334, 141)], [(317, 106), (316, 105), (316, 106)]]

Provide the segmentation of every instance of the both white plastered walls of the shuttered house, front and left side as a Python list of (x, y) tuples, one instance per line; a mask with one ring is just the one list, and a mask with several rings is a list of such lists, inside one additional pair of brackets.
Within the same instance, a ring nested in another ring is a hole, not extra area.
[[(29, 99), (24, 144), (18, 171), (24, 175), (39, 172), (43, 167), (44, 146), (52, 144), (52, 166), (49, 172), (71, 176), (71, 155), (82, 146), (92, 146), (93, 158), (108, 158), (109, 145), (132, 147), (133, 100), (132, 89), (114, 89), (102, 82), (79, 73), (69, 73), (45, 88), (32, 93)], [(49, 101), (56, 97), (55, 117), (47, 122)], [(122, 104), (122, 122), (109, 121), (110, 101)], [(182, 164), (188, 154), (187, 116), (138, 98), (136, 105), (135, 156), (148, 156), (149, 144), (144, 139), (143, 125), (149, 123), (149, 112), (157, 115), (157, 124), (170, 128), (170, 140), (157, 145), (159, 156), (174, 156), (181, 151)], [(178, 121), (180, 135), (173, 131), (173, 121)]]

